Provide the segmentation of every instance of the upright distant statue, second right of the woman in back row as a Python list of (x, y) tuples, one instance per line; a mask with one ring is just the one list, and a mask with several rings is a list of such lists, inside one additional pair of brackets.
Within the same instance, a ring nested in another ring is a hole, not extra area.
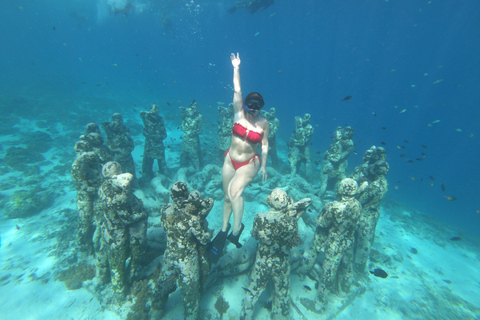
[(291, 175), (295, 177), (300, 164), (305, 163), (305, 175), (312, 177), (312, 163), (310, 157), (310, 140), (313, 136), (313, 127), (310, 124), (310, 114), (302, 118), (295, 117), (295, 131), (292, 133), (288, 146), (288, 161), (290, 162)]

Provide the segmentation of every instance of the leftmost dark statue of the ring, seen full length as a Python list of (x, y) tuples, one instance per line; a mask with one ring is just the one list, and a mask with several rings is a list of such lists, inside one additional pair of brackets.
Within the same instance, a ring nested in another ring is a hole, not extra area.
[(77, 157), (72, 165), (72, 177), (77, 187), (77, 244), (81, 251), (93, 253), (94, 208), (103, 182), (101, 159), (86, 140), (75, 144), (75, 152)]

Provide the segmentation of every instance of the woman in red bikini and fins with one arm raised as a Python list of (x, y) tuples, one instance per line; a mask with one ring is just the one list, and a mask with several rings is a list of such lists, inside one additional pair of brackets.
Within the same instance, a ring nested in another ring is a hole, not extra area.
[[(222, 230), (207, 247), (206, 256), (216, 263), (223, 254), (225, 241), (228, 239), (237, 248), (242, 245), (238, 242), (244, 229), (243, 217), (243, 190), (260, 171), (262, 180), (267, 179), (268, 157), (268, 121), (261, 117), (260, 110), (265, 104), (263, 97), (252, 92), (242, 99), (240, 83), (240, 54), (230, 55), (233, 65), (233, 120), (232, 140), (230, 149), (225, 152), (222, 178), (225, 201), (223, 203)], [(255, 153), (257, 146), (262, 145), (262, 158)], [(233, 230), (230, 229), (230, 216), (233, 212)]]

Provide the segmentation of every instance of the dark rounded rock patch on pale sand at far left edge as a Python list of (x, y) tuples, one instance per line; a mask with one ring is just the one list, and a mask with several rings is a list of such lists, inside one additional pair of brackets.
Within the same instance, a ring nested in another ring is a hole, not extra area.
[(8, 219), (25, 218), (39, 213), (52, 202), (53, 195), (42, 187), (17, 190), (5, 203), (5, 216)]

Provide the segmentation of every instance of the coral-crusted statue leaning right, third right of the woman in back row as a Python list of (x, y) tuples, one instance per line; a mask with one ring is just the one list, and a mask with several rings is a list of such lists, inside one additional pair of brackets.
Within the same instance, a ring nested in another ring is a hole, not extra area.
[(353, 129), (351, 127), (338, 127), (335, 130), (332, 137), (333, 143), (328, 147), (323, 156), (319, 197), (327, 190), (329, 181), (334, 179), (337, 182), (347, 176), (347, 160), (354, 148), (352, 138)]

